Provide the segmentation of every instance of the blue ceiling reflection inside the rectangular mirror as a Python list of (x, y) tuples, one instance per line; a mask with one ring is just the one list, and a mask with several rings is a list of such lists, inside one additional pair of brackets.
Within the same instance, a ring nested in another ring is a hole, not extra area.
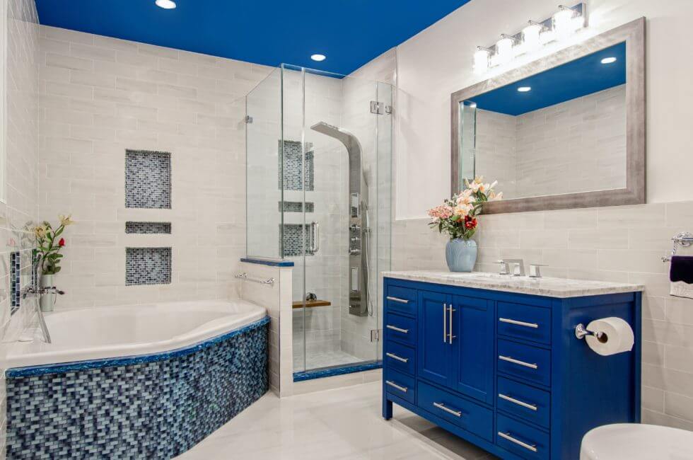
[[(601, 60), (605, 57), (615, 57), (617, 60), (612, 64), (602, 64)], [(465, 103), (474, 102), (477, 108), (492, 112), (521, 115), (624, 83), (625, 42), (494, 89)], [(520, 86), (530, 86), (532, 91), (520, 93)]]

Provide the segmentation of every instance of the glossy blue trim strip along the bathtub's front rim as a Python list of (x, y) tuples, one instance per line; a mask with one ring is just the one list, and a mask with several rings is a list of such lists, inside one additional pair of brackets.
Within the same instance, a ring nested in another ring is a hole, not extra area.
[(38, 366), (12, 367), (11, 369), (6, 370), (5, 375), (7, 378), (12, 378), (31, 375), (59, 374), (62, 372), (80, 371), (85, 369), (99, 369), (101, 367), (127, 366), (129, 364), (143, 364), (146, 362), (169, 360), (171, 358), (192, 355), (192, 353), (194, 352), (204, 350), (205, 348), (211, 347), (216, 343), (223, 342), (228, 338), (231, 338), (235, 335), (243, 334), (245, 332), (248, 332), (249, 330), (259, 328), (267, 323), (269, 323), (269, 316), (265, 316), (264, 318), (255, 321), (254, 323), (250, 323), (246, 326), (243, 326), (241, 328), (231, 330), (228, 333), (217, 335), (216, 337), (205, 340), (204, 342), (196, 343), (194, 345), (190, 345), (184, 348), (178, 348), (177, 350), (152, 353), (151, 355), (106, 358), (103, 360), (74, 361), (61, 362), (58, 364), (42, 364)]

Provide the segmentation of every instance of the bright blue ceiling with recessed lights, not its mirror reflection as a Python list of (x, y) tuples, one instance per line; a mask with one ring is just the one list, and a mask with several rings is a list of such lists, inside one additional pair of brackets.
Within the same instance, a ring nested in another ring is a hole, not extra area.
[[(44, 25), (349, 74), (470, 0), (36, 0)], [(325, 54), (315, 62), (310, 54)]]

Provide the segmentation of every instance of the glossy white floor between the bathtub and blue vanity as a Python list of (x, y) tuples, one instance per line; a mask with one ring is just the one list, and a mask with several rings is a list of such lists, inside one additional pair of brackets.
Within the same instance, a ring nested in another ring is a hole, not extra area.
[(492, 459), (395, 406), (380, 417), (380, 382), (279, 400), (267, 393), (180, 460)]

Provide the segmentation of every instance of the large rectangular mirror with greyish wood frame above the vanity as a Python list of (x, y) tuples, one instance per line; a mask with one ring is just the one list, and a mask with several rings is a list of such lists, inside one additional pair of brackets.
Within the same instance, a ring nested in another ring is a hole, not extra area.
[(452, 193), (498, 180), (484, 212), (645, 200), (644, 19), (452, 95)]

